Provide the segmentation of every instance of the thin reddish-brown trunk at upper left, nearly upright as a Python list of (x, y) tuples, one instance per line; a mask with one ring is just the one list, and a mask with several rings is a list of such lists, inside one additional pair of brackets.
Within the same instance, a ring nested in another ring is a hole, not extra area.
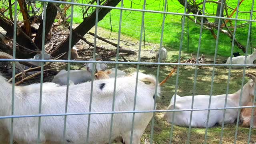
[(30, 22), (29, 22), (29, 15), (28, 15), (28, 9), (26, 6), (25, 0), (18, 0), (19, 6), (20, 6), (20, 12), (22, 13), (23, 22), (24, 22), (24, 32), (27, 36), (31, 38), (31, 28), (30, 28)]

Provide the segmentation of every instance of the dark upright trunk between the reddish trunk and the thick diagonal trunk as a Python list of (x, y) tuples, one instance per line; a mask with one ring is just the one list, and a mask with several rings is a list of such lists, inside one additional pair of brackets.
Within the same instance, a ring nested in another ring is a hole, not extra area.
[[(58, 1), (58, 0), (56, 0)], [(51, 30), (51, 27), (52, 27), (52, 24), (54, 23), (54, 20), (55, 20), (55, 17), (56, 17), (56, 14), (57, 14), (57, 9), (55, 8), (55, 6), (48, 2), (47, 4), (47, 8), (46, 8), (46, 21), (45, 21), (45, 38), (47, 38), (48, 36), (48, 33), (50, 32)], [(36, 46), (42, 50), (42, 33), (43, 33), (43, 20), (38, 28), (38, 32), (36, 33), (36, 37), (35, 37), (35, 44)]]

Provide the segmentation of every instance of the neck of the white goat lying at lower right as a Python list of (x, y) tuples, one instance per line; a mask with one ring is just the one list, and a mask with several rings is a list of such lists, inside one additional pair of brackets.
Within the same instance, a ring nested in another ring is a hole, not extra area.
[[(233, 94), (233, 101), (239, 104), (241, 89)], [(245, 84), (242, 91), (241, 106), (245, 106), (251, 100), (249, 84)]]

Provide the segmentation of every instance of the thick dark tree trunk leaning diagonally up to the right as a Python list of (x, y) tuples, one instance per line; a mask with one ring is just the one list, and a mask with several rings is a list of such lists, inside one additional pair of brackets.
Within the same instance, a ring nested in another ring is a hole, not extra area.
[[(107, 0), (103, 5), (104, 6), (116, 6), (121, 0)], [(99, 14), (98, 14), (98, 22), (110, 12), (110, 8), (99, 8)], [(88, 17), (84, 18), (83, 22), (77, 26), (74, 31), (72, 32), (72, 42), (71, 46), (74, 46), (80, 38), (77, 34), (80, 36), (84, 36), (94, 25), (96, 20), (96, 10), (92, 12)], [(69, 36), (57, 47), (55, 48), (51, 56), (56, 57), (59, 54), (62, 54), (64, 52), (68, 52), (68, 43), (69, 43)]]

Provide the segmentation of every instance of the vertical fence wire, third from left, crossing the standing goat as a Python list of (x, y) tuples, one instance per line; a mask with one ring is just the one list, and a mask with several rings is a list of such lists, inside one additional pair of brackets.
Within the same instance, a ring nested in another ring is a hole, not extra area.
[[(71, 0), (74, 2), (74, 0)], [(70, 35), (69, 35), (69, 42), (68, 42), (68, 60), (71, 57), (71, 45), (72, 45), (72, 26), (73, 26), (73, 12), (74, 12), (74, 5), (71, 5), (71, 14), (70, 14)], [(68, 62), (68, 71), (67, 71), (67, 89), (66, 89), (66, 101), (65, 101), (65, 114), (68, 112), (68, 91), (69, 91), (69, 84), (70, 84), (70, 62)], [(67, 126), (67, 116), (64, 116), (64, 126), (63, 126), (63, 142), (66, 138), (66, 126)]]

